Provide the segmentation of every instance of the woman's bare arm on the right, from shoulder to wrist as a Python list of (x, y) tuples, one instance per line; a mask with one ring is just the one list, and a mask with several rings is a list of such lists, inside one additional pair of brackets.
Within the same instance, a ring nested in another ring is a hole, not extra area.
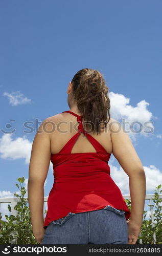
[(124, 172), (129, 176), (131, 197), (130, 220), (135, 226), (141, 227), (146, 196), (146, 177), (143, 164), (138, 157), (129, 136), (123, 131), (122, 125), (114, 119), (111, 120), (110, 131), (113, 147), (112, 153), (124, 169)]

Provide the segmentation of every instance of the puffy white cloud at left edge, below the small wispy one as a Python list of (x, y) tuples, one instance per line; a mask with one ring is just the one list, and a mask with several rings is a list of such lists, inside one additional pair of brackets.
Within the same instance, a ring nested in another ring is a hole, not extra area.
[(13, 134), (4, 134), (0, 139), (0, 157), (3, 159), (25, 159), (25, 163), (30, 162), (32, 142), (26, 136), (12, 139)]

